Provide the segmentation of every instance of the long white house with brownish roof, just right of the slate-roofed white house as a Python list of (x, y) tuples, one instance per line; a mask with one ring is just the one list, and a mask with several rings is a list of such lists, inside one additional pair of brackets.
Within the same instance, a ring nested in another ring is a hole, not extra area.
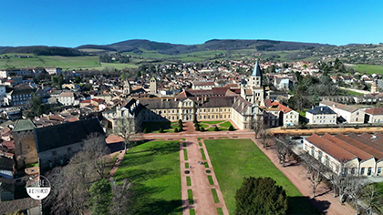
[(336, 112), (338, 121), (347, 123), (364, 123), (365, 113), (358, 107), (343, 105), (337, 102), (323, 100), (319, 106), (326, 106)]

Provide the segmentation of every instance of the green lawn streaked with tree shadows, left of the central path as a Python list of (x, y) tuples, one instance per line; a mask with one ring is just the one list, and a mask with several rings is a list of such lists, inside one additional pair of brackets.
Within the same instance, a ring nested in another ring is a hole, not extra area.
[(178, 141), (150, 141), (130, 148), (114, 179), (133, 183), (133, 214), (182, 214)]

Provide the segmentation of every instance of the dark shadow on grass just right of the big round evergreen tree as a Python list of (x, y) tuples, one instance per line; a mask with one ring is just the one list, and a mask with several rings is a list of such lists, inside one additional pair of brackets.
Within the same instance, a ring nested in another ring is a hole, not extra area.
[(286, 214), (326, 214), (330, 207), (327, 200), (316, 200), (308, 197), (289, 197)]

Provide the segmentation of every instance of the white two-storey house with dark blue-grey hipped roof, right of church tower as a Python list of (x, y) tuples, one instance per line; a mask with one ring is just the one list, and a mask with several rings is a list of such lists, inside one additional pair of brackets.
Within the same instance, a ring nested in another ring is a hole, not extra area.
[(336, 112), (326, 106), (317, 106), (305, 112), (308, 124), (314, 125), (336, 125)]

